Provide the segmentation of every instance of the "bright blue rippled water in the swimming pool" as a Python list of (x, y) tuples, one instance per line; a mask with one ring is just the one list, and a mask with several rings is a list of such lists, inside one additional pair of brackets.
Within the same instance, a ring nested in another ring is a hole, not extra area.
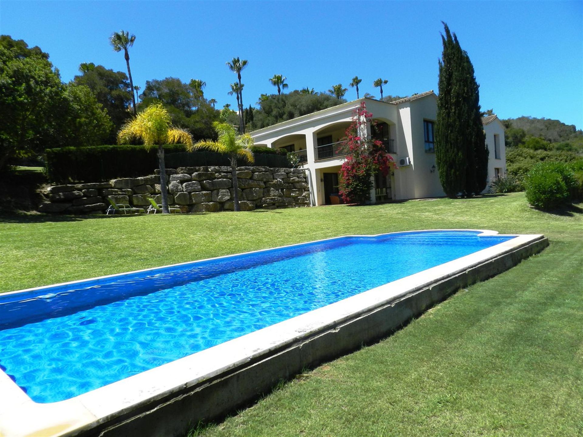
[(513, 237), (342, 237), (0, 295), (0, 368), (68, 399)]

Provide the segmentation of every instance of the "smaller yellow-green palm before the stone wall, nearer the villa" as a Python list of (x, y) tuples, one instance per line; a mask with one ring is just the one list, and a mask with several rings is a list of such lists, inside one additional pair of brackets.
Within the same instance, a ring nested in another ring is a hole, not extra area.
[(203, 140), (189, 147), (194, 149), (209, 149), (218, 153), (228, 154), (231, 160), (231, 174), (233, 175), (233, 207), (234, 210), (240, 211), (239, 193), (237, 183), (237, 158), (245, 158), (250, 163), (253, 162), (253, 154), (251, 153), (251, 146), (253, 139), (248, 133), (237, 135), (235, 128), (229, 123), (222, 123), (220, 121), (213, 122), (213, 128), (219, 135), (216, 141)]

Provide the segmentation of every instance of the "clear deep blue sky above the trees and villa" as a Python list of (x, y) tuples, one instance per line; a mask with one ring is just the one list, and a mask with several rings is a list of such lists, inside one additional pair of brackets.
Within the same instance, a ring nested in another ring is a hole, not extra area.
[(441, 20), (473, 62), (480, 103), (501, 118), (560, 119), (583, 128), (583, 2), (578, 1), (27, 1), (0, 0), (0, 33), (38, 45), (66, 82), (81, 62), (126, 71), (108, 44), (113, 31), (136, 35), (134, 83), (180, 77), (206, 82), (217, 107), (236, 76), (225, 65), (248, 59), (244, 104), (273, 93), (274, 74), (290, 90), (317, 91), (363, 79), (361, 93), (408, 96), (434, 89)]

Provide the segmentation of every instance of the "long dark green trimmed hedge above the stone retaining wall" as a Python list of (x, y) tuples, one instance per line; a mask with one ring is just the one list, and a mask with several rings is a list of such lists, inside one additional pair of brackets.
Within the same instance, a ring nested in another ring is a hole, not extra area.
[[(207, 150), (187, 152), (184, 145), (164, 146), (166, 167), (230, 165), (226, 156)], [(287, 152), (253, 147), (254, 165), (289, 167)], [(51, 182), (101, 182), (153, 174), (158, 168), (157, 147), (144, 146), (60, 147), (45, 150), (47, 175)], [(245, 165), (247, 163), (241, 163)]]

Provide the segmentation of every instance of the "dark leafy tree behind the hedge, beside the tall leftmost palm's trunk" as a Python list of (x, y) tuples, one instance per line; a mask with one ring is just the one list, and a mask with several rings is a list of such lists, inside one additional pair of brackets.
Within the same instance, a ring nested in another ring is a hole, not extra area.
[(103, 65), (87, 68), (88, 65), (91, 64), (81, 64), (79, 69), (82, 75), (73, 77), (73, 82), (89, 87), (97, 102), (106, 109), (114, 125), (108, 141), (114, 142), (117, 131), (129, 117), (128, 108), (132, 96), (128, 76), (121, 71), (106, 69)]

